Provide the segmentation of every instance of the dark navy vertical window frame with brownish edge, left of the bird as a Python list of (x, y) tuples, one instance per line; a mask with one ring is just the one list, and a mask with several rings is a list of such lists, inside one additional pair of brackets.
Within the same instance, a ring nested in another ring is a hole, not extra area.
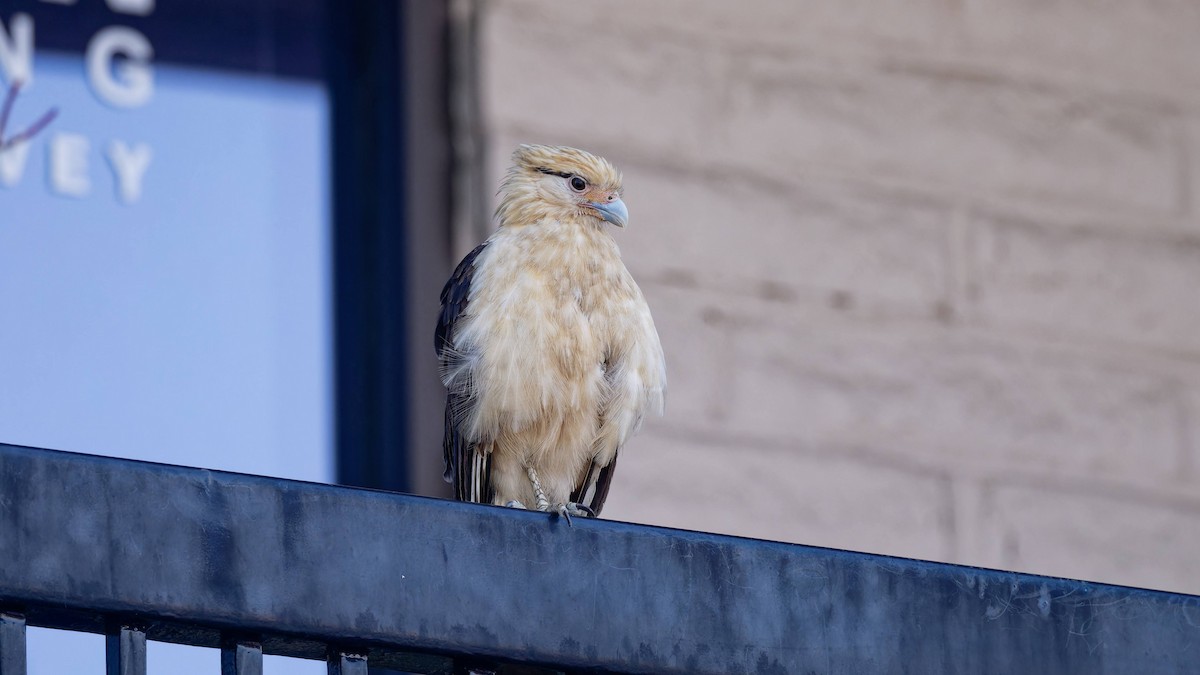
[(432, 352), (450, 264), (444, 2), (331, 4), (337, 482), (444, 495)]

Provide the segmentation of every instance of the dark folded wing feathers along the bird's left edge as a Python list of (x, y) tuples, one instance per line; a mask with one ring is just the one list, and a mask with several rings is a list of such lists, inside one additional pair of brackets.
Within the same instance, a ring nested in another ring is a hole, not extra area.
[[(458, 263), (458, 267), (455, 268), (454, 274), (450, 275), (446, 285), (442, 288), (442, 313), (438, 316), (438, 325), (433, 333), (433, 347), (437, 350), (438, 358), (443, 364), (456, 358), (454, 350), (455, 323), (457, 323), (458, 317), (467, 309), (467, 303), (470, 299), (470, 281), (475, 276), (475, 258), (479, 257), (479, 253), (486, 246), (487, 243), (485, 241), (475, 246), (474, 251), (467, 253), (467, 257)], [(472, 500), (472, 495), (475, 488), (473, 482), (476, 476), (474, 462), (478, 448), (463, 437), (455, 423), (455, 411), (462, 410), (464, 405), (467, 405), (466, 396), (455, 392), (446, 393), (445, 436), (442, 441), (445, 460), (443, 478), (448, 483), (454, 483), (456, 498), (461, 501), (475, 501)], [(480, 461), (484, 465), (478, 474), (482, 477), (484, 485), (480, 485), (481, 498), (478, 501), (488, 503), (492, 501), (491, 453), (482, 454)]]

